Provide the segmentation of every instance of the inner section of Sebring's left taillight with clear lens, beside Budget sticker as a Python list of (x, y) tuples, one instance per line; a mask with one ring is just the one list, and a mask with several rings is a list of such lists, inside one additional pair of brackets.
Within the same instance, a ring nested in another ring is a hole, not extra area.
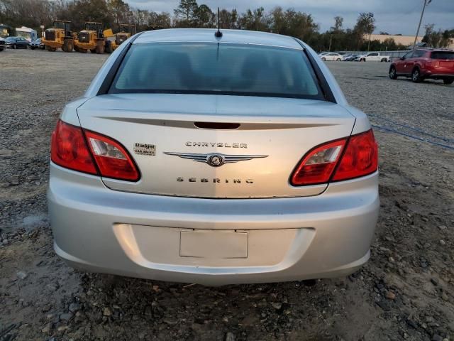
[(107, 136), (85, 131), (89, 148), (102, 176), (137, 181), (140, 174), (126, 149)]

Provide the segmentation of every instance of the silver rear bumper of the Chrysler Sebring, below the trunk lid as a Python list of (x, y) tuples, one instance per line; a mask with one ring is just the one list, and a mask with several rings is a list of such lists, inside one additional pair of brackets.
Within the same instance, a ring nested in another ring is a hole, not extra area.
[[(345, 276), (369, 259), (380, 206), (378, 173), (332, 184), (314, 197), (240, 200), (123, 193), (54, 164), (50, 173), (50, 222), (62, 259), (84, 271), (162, 281), (223, 285)], [(247, 256), (182, 256), (180, 236), (194, 230), (247, 234)]]

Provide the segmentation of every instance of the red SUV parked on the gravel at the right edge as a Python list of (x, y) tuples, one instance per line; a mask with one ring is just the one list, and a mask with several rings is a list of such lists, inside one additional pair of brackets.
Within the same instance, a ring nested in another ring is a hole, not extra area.
[(418, 48), (394, 60), (389, 67), (389, 78), (411, 77), (413, 82), (426, 78), (454, 82), (454, 51), (432, 48)]

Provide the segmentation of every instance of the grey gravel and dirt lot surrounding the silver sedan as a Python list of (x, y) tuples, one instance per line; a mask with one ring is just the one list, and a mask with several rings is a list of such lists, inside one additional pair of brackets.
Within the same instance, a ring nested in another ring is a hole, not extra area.
[(372, 259), (348, 278), (206, 288), (83, 274), (52, 250), (49, 141), (104, 55), (0, 53), (0, 340), (454, 340), (454, 86), (330, 63), (380, 144)]

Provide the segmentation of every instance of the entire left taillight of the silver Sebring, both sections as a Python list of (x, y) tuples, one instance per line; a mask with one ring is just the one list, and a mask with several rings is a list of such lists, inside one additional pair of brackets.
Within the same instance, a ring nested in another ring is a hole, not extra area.
[(63, 121), (52, 134), (51, 159), (59, 166), (106, 178), (140, 178), (133, 159), (117, 141)]

